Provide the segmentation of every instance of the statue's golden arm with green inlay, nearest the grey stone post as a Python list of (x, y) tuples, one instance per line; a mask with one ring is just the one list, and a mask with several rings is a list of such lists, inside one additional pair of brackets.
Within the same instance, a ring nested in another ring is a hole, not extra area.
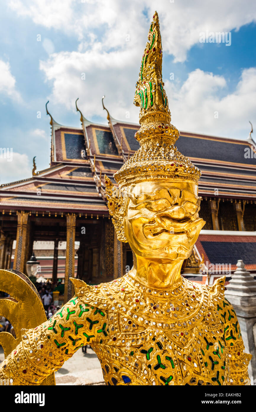
[(224, 327), (223, 344), (228, 349), (229, 385), (250, 385), (248, 365), (251, 355), (245, 353), (238, 318), (231, 303), (224, 299), (219, 305), (221, 320)]

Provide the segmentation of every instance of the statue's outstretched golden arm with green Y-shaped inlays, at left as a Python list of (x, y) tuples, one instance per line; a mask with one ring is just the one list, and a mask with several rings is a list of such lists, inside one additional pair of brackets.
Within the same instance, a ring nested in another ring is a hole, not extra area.
[(22, 340), (0, 365), (0, 379), (14, 385), (39, 385), (81, 346), (106, 339), (107, 314), (77, 296), (48, 321), (23, 330)]

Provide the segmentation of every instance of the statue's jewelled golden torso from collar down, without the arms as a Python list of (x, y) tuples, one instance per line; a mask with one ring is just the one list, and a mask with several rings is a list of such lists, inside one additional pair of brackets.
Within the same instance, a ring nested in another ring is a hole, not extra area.
[(226, 384), (217, 291), (210, 295), (187, 280), (173, 291), (154, 291), (124, 276), (96, 293), (108, 307), (108, 336), (92, 344), (106, 384)]

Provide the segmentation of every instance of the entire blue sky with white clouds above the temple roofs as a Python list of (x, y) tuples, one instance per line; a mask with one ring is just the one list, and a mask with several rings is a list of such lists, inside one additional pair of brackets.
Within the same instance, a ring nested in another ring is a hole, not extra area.
[[(48, 166), (47, 100), (60, 124), (80, 126), (77, 97), (85, 117), (107, 124), (103, 94), (113, 117), (125, 120), (129, 113), (128, 121), (138, 122), (134, 86), (154, 7), (144, 0), (131, 0), (129, 7), (121, 0), (1, 5), (0, 146), (12, 147), (15, 156), (14, 162), (0, 159), (0, 183), (30, 177), (34, 156), (38, 170)], [(157, 11), (173, 124), (181, 131), (246, 139), (249, 120), (256, 129), (255, 2), (163, 0)], [(205, 30), (231, 32), (231, 46), (200, 43)]]

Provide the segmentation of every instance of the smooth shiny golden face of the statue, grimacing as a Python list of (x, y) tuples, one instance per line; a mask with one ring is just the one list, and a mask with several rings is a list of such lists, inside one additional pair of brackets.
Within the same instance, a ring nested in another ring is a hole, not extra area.
[(183, 181), (145, 181), (131, 187), (125, 235), (136, 255), (162, 260), (189, 257), (205, 224), (198, 187)]

